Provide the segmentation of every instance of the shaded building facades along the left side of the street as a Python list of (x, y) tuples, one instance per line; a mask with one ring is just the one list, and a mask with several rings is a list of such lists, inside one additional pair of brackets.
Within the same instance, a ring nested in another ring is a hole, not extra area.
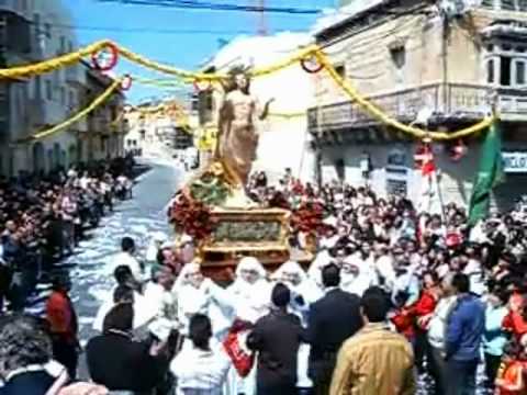
[[(0, 67), (32, 64), (76, 50), (72, 25), (61, 0), (0, 1)], [(94, 80), (93, 72), (87, 64), (79, 64), (34, 78), (0, 81), (0, 173), (49, 171), (90, 158), (106, 158), (108, 154), (117, 155), (117, 143), (104, 155), (98, 149), (88, 150), (88, 120), (41, 140), (27, 138), (67, 120), (88, 105), (101, 83), (111, 83), (103, 76)], [(101, 78), (105, 81), (101, 82)], [(116, 94), (99, 112), (114, 111), (112, 108), (123, 101), (124, 97)], [(110, 128), (110, 116), (106, 119), (99, 131)], [(124, 133), (125, 125), (120, 124), (116, 129)], [(122, 140), (115, 136), (112, 138)]]

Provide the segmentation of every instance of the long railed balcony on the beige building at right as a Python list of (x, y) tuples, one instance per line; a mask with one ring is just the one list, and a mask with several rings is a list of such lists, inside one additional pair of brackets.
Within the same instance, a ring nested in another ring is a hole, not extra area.
[[(401, 122), (413, 122), (422, 109), (431, 111), (434, 122), (474, 122), (496, 108), (505, 121), (527, 122), (527, 90), (497, 89), (464, 83), (435, 83), (388, 94), (372, 95), (369, 101)], [(309, 110), (310, 132), (337, 131), (374, 126), (379, 121), (352, 101)]]

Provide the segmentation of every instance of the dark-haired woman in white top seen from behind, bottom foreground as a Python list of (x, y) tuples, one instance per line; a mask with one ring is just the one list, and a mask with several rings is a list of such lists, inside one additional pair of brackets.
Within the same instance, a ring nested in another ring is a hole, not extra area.
[(178, 380), (178, 395), (221, 395), (231, 360), (222, 345), (211, 342), (212, 325), (208, 316), (195, 314), (189, 324), (190, 342), (170, 364)]

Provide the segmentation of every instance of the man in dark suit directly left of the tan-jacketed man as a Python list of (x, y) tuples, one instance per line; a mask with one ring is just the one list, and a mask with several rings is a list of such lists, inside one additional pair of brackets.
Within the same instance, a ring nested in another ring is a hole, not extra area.
[(315, 395), (327, 395), (337, 352), (344, 341), (362, 327), (360, 297), (341, 291), (340, 272), (336, 264), (322, 270), (326, 295), (312, 304), (307, 326), (311, 343), (309, 375)]

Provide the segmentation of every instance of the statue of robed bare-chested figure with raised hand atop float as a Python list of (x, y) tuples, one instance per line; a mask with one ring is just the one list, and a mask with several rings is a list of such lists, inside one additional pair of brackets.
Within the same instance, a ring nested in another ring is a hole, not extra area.
[(258, 148), (257, 122), (269, 113), (269, 100), (260, 108), (250, 94), (250, 80), (246, 69), (234, 67), (224, 84), (224, 97), (218, 105), (218, 136), (215, 159), (221, 161), (229, 177), (244, 190)]

